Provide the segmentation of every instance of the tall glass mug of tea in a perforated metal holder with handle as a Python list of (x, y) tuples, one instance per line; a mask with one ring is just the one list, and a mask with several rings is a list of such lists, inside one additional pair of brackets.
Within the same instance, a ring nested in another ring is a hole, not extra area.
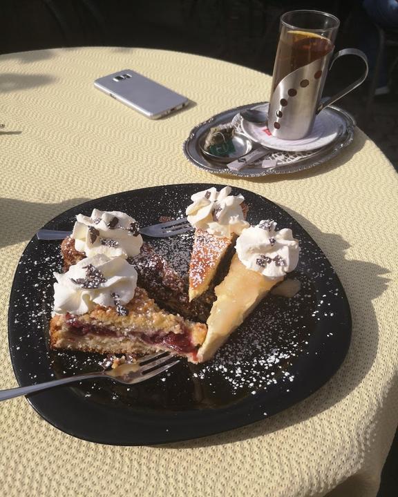
[[(361, 50), (345, 48), (332, 58), (339, 24), (337, 17), (318, 10), (294, 10), (282, 15), (268, 108), (268, 128), (275, 137), (305, 137), (323, 108), (365, 81), (368, 59)], [(361, 57), (365, 71), (357, 81), (321, 101), (328, 70), (343, 55)]]

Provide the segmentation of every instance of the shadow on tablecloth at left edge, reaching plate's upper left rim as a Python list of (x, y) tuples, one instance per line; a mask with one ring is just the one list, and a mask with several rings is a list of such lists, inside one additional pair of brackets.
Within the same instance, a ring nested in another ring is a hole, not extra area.
[(57, 204), (40, 204), (0, 198), (0, 249), (30, 240), (53, 217), (88, 200), (90, 199), (75, 198)]

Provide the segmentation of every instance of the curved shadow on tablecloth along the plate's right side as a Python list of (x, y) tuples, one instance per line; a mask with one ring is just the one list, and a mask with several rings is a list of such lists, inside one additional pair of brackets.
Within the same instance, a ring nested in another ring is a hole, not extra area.
[[(369, 373), (375, 362), (379, 342), (379, 327), (372, 300), (386, 290), (390, 280), (382, 275), (386, 275), (388, 269), (372, 262), (345, 259), (345, 251), (350, 245), (343, 237), (334, 233), (322, 233), (303, 216), (292, 212), (291, 209), (286, 210), (310, 233), (321, 249), (328, 249), (328, 253), (332, 254), (332, 265), (335, 268), (343, 268), (339, 277), (350, 302), (353, 324), (352, 341), (345, 361), (334, 377), (312, 396), (267, 420), (215, 436), (156, 447), (184, 449), (223, 445), (285, 429), (330, 409), (356, 389)], [(352, 281), (353, 277), (361, 278), (360, 281), (364, 284), (361, 292), (358, 291), (358, 283)]]

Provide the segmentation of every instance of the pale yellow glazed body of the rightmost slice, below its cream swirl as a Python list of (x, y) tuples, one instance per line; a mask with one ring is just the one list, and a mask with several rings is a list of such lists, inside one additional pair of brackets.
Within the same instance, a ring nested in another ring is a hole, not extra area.
[(247, 269), (235, 254), (227, 276), (214, 289), (217, 300), (207, 320), (207, 335), (198, 351), (198, 362), (211, 359), (229, 335), (281, 280), (283, 277), (267, 280), (260, 273)]

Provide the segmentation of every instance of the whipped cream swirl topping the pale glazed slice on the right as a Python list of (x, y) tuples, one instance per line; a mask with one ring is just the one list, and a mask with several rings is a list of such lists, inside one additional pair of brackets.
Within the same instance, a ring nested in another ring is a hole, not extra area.
[(247, 269), (276, 280), (293, 271), (299, 262), (299, 241), (290, 228), (276, 231), (273, 220), (245, 229), (236, 240), (236, 253)]

